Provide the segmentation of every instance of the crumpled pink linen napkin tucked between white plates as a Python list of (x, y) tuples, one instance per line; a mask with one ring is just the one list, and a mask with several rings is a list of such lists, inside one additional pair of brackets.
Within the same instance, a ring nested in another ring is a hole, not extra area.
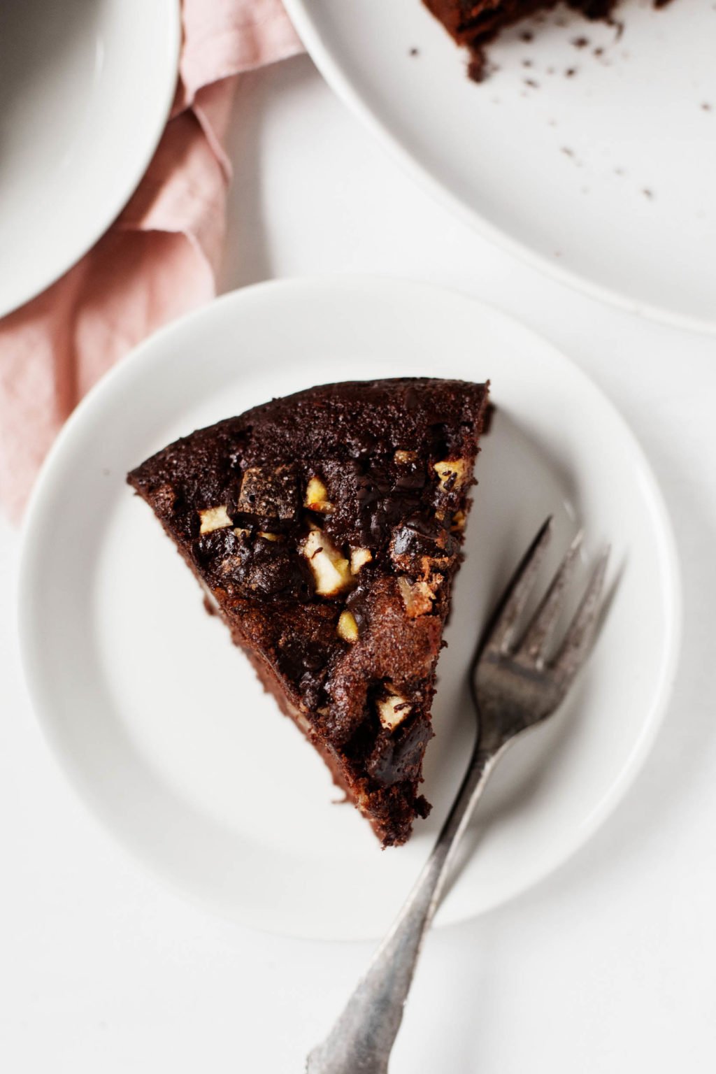
[(0, 499), (14, 519), (85, 392), (149, 333), (214, 296), (234, 76), (302, 50), (280, 0), (184, 0), (182, 20), (172, 118), (133, 198), (82, 261), (0, 319)]

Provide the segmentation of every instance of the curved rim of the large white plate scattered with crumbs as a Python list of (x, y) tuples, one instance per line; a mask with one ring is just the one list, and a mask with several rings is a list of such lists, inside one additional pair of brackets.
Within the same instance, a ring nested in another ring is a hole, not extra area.
[[(513, 238), (492, 223), (486, 216), (473, 208), (439, 178), (434, 176), (427, 165), (413, 156), (403, 145), (397, 134), (394, 134), (388, 124), (363, 98), (354, 87), (351, 78), (344, 72), (340, 63), (334, 57), (321, 35), (320, 27), (310, 14), (310, 0), (283, 0), (295, 30), (306, 47), (308, 55), (320, 71), (326, 84), (335, 95), (347, 105), (363, 125), (374, 134), (390, 156), (406, 171), (413, 180), (438, 204), (447, 205), (458, 219), (469, 224), (483, 238), (506, 250), (542, 275), (552, 277), (573, 291), (586, 294), (608, 305), (615, 306), (628, 314), (637, 315), (671, 328), (699, 332), (703, 335), (716, 335), (716, 316), (713, 320), (691, 317), (675, 309), (652, 303), (639, 302), (628, 294), (602, 284), (596, 284), (588, 276), (573, 272), (564, 265), (551, 261), (547, 257), (531, 249), (526, 243)], [(459, 60), (459, 49), (455, 46), (456, 60)]]

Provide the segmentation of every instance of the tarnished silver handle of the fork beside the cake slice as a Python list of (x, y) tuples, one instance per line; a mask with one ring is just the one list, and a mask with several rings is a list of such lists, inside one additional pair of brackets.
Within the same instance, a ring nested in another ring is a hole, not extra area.
[(488, 753), (476, 743), (433, 853), (342, 1014), (325, 1041), (310, 1053), (307, 1074), (386, 1074), (423, 937), (459, 839), (500, 752)]

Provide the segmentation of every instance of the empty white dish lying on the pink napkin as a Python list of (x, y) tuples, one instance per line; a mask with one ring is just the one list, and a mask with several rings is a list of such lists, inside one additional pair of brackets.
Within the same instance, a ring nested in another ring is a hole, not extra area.
[(10, 0), (0, 30), (0, 316), (129, 201), (176, 88), (178, 0)]

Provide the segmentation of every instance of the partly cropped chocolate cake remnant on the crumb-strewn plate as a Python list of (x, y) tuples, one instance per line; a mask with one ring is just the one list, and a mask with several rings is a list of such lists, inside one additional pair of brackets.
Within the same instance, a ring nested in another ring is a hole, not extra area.
[[(468, 64), (470, 77), (482, 82), (489, 71), (484, 59), (484, 47), (506, 27), (534, 16), (534, 21), (540, 20), (539, 13), (557, 8), (558, 0), (423, 0), (426, 6), (439, 18), (445, 29), (458, 45), (470, 49), (471, 59)], [(624, 29), (623, 25), (612, 19), (612, 12), (618, 0), (565, 0), (567, 6), (582, 12), (590, 19), (604, 19), (617, 29), (617, 38)], [(656, 8), (663, 8), (669, 0), (654, 0)], [(564, 19), (557, 20), (558, 26), (566, 26)], [(534, 38), (531, 30), (524, 30), (521, 40), (529, 42)], [(588, 45), (584, 37), (574, 42), (582, 48)], [(571, 72), (573, 73), (573, 72)]]

